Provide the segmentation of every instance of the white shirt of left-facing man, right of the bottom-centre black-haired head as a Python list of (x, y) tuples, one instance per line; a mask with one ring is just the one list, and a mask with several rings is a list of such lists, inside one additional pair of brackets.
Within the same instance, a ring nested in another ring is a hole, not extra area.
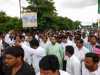
[(66, 71), (71, 75), (81, 75), (81, 64), (75, 55), (67, 59)]

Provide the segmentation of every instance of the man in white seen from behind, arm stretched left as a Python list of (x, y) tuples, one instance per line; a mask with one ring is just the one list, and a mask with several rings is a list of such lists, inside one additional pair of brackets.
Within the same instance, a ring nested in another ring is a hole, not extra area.
[(35, 72), (39, 72), (39, 61), (46, 55), (46, 51), (44, 48), (39, 46), (39, 41), (33, 38), (30, 41), (30, 46), (21, 45), (25, 51), (26, 56), (25, 59), (30, 59), (29, 63), (34, 67)]

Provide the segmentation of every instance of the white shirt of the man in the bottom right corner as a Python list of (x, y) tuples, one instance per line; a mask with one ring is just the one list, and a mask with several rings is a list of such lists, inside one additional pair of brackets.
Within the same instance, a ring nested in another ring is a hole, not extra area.
[(86, 69), (84, 63), (82, 64), (82, 75), (100, 75), (100, 66), (98, 69), (94, 72), (90, 72), (88, 69)]

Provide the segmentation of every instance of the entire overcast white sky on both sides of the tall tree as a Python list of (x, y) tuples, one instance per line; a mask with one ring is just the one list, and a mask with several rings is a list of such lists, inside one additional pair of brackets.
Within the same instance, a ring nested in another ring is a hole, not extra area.
[[(59, 16), (66, 16), (72, 20), (80, 20), (82, 24), (96, 22), (97, 0), (54, 0)], [(22, 6), (27, 6), (26, 0), (21, 0)], [(0, 10), (10, 16), (20, 16), (19, 0), (0, 0)]]

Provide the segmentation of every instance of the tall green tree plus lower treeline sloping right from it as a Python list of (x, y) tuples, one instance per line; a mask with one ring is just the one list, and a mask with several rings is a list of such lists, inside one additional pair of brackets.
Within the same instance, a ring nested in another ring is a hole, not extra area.
[[(79, 21), (72, 21), (68, 17), (57, 16), (53, 0), (27, 0), (28, 9), (37, 12), (37, 22), (39, 29), (76, 29)], [(32, 9), (33, 8), (33, 9)]]

